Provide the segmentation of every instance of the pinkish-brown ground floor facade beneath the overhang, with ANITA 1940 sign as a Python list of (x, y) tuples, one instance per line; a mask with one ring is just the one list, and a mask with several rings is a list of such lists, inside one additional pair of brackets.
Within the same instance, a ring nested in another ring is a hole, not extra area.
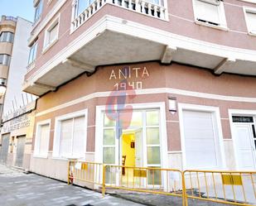
[(37, 100), (31, 170), (66, 180), (69, 159), (255, 170), (255, 80), (175, 63), (99, 67)]

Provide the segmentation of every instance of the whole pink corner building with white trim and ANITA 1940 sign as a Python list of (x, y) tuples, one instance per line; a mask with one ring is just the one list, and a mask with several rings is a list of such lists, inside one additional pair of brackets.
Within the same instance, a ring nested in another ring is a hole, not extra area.
[(32, 171), (66, 180), (69, 158), (256, 169), (255, 2), (34, 3)]

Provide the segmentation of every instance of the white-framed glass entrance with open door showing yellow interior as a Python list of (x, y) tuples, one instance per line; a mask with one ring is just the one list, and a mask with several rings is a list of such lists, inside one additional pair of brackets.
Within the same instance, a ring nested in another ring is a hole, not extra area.
[[(161, 167), (160, 133), (159, 109), (104, 113), (103, 163)], [(119, 178), (133, 181), (133, 170), (123, 169), (121, 172)], [(114, 171), (109, 170), (107, 182), (116, 180), (113, 175)]]

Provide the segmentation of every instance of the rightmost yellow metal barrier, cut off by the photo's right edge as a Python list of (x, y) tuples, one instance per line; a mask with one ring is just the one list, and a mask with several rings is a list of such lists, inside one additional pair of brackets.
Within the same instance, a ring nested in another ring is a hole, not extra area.
[(185, 199), (221, 204), (256, 204), (255, 171), (186, 170)]

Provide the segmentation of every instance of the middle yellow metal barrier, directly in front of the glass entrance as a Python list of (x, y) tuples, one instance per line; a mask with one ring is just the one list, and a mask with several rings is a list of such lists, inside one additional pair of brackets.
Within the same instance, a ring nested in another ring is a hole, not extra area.
[[(181, 197), (186, 191), (181, 170), (104, 165), (104, 187)], [(183, 201), (185, 206), (185, 202)]]

